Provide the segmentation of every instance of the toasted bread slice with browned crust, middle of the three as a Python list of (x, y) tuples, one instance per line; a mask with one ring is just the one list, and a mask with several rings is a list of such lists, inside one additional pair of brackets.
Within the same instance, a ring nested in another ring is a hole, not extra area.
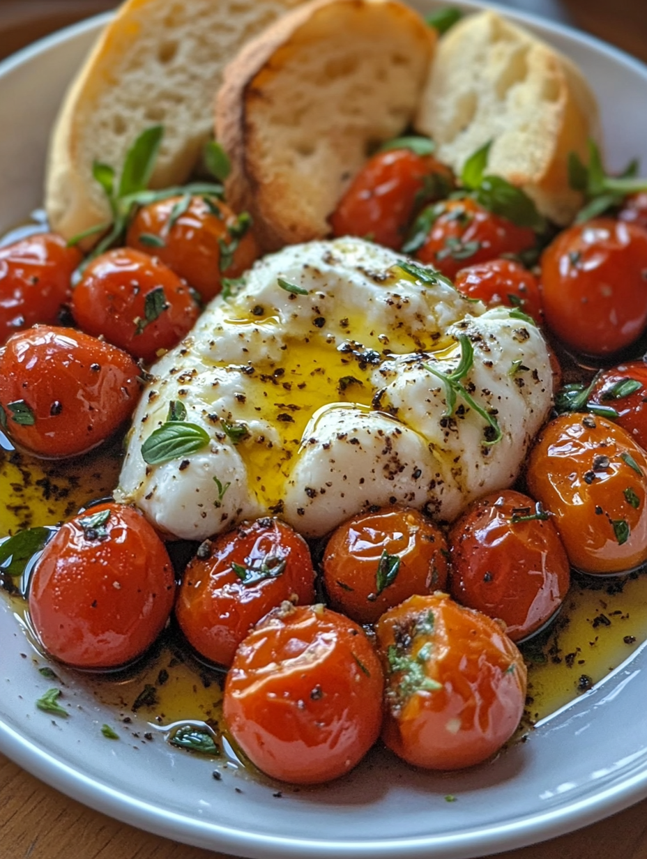
[(266, 250), (329, 233), (367, 153), (411, 123), (435, 41), (397, 0), (314, 0), (229, 64), (216, 112), (227, 198)]

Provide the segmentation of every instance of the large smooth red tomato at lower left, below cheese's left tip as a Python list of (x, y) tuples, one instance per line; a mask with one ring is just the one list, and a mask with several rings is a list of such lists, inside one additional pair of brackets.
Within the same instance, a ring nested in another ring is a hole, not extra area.
[[(107, 511), (105, 522), (89, 520)], [(46, 545), (29, 588), (40, 642), (56, 659), (113, 668), (150, 647), (173, 607), (168, 552), (133, 507), (100, 504), (65, 522)]]

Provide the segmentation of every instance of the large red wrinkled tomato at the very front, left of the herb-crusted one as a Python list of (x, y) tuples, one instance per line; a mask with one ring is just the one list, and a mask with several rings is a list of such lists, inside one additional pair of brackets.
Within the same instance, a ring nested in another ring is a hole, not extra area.
[(296, 784), (345, 775), (380, 735), (380, 660), (366, 633), (323, 606), (284, 604), (236, 651), (224, 717), (259, 770)]

